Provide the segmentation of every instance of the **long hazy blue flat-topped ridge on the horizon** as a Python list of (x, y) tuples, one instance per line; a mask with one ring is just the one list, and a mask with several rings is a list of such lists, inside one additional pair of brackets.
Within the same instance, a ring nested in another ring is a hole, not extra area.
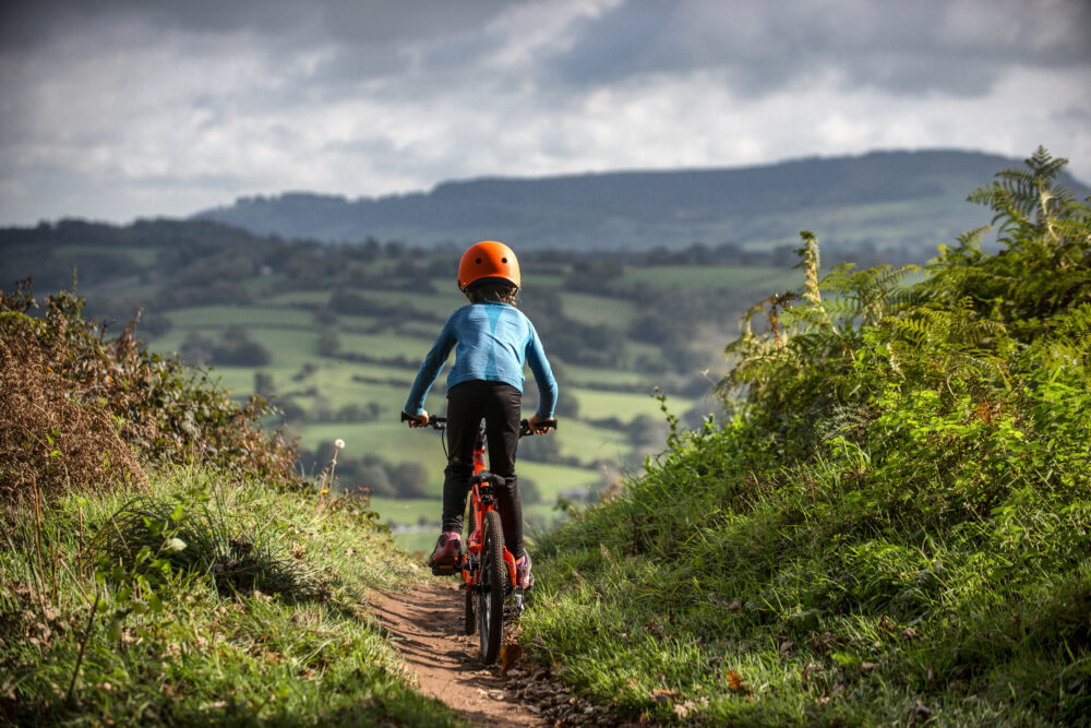
[[(311, 192), (239, 198), (194, 217), (288, 238), (374, 237), (417, 246), (494, 237), (532, 248), (768, 248), (817, 228), (841, 247), (926, 243), (934, 250), (988, 222), (966, 195), (1019, 164), (982, 152), (924, 150), (752, 167), (488, 176), (356, 200)], [(1070, 177), (1065, 182), (1087, 190)]]

